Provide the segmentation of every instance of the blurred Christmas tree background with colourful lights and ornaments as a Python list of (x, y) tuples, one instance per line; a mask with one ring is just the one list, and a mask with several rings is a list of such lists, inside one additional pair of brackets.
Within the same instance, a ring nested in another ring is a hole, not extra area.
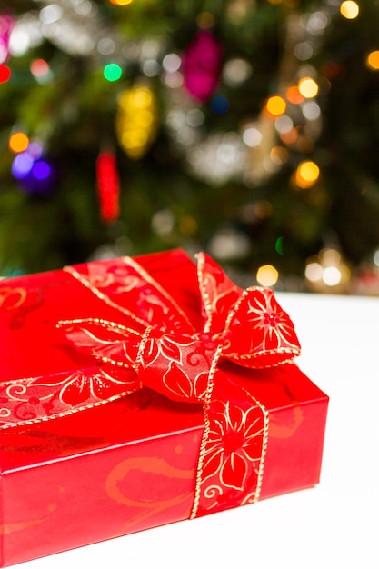
[(378, 0), (0, 0), (0, 275), (175, 247), (379, 295)]

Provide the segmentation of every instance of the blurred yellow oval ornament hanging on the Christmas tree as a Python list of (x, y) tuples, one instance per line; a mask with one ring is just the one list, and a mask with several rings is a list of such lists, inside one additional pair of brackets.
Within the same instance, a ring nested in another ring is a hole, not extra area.
[(138, 160), (155, 139), (157, 105), (154, 92), (139, 85), (118, 97), (115, 129), (119, 144), (130, 158)]

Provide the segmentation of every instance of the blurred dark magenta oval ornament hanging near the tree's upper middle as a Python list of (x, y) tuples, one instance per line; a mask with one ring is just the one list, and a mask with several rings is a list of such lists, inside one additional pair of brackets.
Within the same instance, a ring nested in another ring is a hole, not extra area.
[(185, 89), (205, 103), (219, 84), (223, 48), (214, 34), (201, 30), (185, 50), (182, 69)]

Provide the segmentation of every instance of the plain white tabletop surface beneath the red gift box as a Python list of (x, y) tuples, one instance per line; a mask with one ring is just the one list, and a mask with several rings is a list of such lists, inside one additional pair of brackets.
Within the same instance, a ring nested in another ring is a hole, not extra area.
[(321, 484), (18, 569), (379, 568), (379, 299), (277, 294), (330, 396)]

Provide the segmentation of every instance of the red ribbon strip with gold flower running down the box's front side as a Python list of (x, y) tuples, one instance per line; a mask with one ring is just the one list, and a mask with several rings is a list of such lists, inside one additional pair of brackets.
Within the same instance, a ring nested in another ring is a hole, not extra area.
[(261, 494), (269, 414), (253, 395), (223, 374), (214, 382), (204, 407), (205, 430), (200, 450), (194, 507), (200, 517), (241, 504)]

